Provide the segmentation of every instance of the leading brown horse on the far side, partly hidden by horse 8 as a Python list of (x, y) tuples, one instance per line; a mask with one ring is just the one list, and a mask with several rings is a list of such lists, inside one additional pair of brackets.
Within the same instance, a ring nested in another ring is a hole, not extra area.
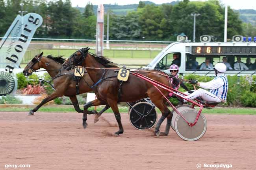
[[(33, 115), (34, 112), (36, 112), (41, 106), (43, 106), (43, 104), (63, 95), (70, 98), (76, 112), (83, 113), (83, 110), (79, 108), (79, 104), (76, 98), (76, 82), (73, 80), (74, 69), (70, 71), (63, 69), (62, 64), (64, 63), (64, 61), (65, 58), (62, 58), (61, 56), (52, 57), (51, 55), (48, 55), (47, 57), (44, 57), (42, 52), (40, 55), (36, 55), (24, 68), (24, 75), (31, 75), (33, 71), (36, 71), (40, 68), (46, 69), (46, 71), (53, 79), (53, 84), (55, 88), (54, 92), (46, 97), (39, 105), (30, 110), (28, 115)], [(84, 74), (83, 79), (81, 79), (79, 82), (79, 94), (92, 91), (92, 85), (93, 81), (90, 79), (89, 75)], [(109, 106), (106, 106), (99, 113), (103, 113), (108, 108)], [(86, 126), (86, 124), (83, 124), (83, 126)]]

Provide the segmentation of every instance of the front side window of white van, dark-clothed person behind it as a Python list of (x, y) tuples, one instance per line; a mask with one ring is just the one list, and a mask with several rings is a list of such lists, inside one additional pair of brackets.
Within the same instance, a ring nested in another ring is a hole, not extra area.
[(156, 69), (167, 70), (172, 64), (176, 64), (180, 67), (181, 53), (169, 53), (165, 55), (158, 64), (156, 64)]

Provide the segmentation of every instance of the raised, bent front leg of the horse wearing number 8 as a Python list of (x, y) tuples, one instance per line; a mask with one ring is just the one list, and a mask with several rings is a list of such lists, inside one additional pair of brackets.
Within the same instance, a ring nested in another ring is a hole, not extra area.
[(102, 105), (102, 104), (106, 104), (103, 101), (100, 101), (99, 99), (96, 99), (94, 101), (91, 102), (87, 102), (84, 106), (83, 106), (83, 128), (85, 129), (87, 127), (87, 114), (91, 115), (91, 114), (97, 114), (96, 110), (93, 111), (88, 111), (88, 108), (91, 106), (98, 106), (98, 105)]

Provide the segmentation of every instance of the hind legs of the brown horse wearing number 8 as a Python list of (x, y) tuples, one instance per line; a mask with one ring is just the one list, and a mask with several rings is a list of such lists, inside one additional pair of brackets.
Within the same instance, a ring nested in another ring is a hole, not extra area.
[[(162, 122), (165, 120), (165, 118), (170, 114), (170, 121), (167, 121), (167, 131), (169, 132), (170, 130), (170, 127), (169, 127), (169, 130), (168, 130), (168, 126), (171, 126), (171, 118), (173, 117), (173, 114), (171, 113), (171, 111), (167, 108), (167, 106), (164, 104), (163, 102), (163, 99), (157, 99), (157, 98), (150, 98), (151, 101), (156, 105), (156, 107), (159, 108), (159, 110), (162, 112), (162, 116), (161, 118), (158, 120), (157, 124), (156, 124), (156, 127), (155, 127), (155, 134), (156, 136), (160, 136), (160, 126), (162, 124)], [(168, 125), (169, 124), (169, 125)], [(167, 133), (168, 134), (168, 133)]]

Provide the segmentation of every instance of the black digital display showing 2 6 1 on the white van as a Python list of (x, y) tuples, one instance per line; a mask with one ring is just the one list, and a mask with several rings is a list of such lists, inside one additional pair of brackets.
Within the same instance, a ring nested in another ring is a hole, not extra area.
[(249, 46), (191, 46), (191, 54), (256, 55), (256, 47), (249, 47)]

